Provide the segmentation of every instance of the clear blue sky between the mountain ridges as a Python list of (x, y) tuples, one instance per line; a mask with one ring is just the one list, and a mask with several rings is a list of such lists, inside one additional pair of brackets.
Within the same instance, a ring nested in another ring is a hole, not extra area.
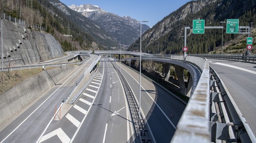
[(149, 21), (152, 27), (165, 16), (191, 0), (60, 0), (67, 6), (92, 4), (121, 17), (131, 16), (137, 21)]

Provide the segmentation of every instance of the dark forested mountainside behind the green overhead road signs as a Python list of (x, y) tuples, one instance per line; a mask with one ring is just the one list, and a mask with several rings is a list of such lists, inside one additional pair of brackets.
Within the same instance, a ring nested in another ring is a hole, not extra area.
[[(239, 19), (240, 26), (249, 26), (249, 22), (256, 24), (255, 7), (255, 0), (190, 1), (143, 34), (142, 51), (145, 52), (146, 48), (147, 52), (156, 54), (159, 41), (159, 52), (162, 52), (162, 54), (179, 54), (182, 46), (184, 46), (182, 43), (184, 28), (187, 26), (192, 28), (193, 19), (205, 19), (205, 26), (222, 26), (220, 21)], [(159, 28), (161, 26), (162, 28)], [(224, 24), (223, 26), (225, 27), (226, 25)], [(226, 34), (226, 28), (223, 30), (224, 45), (241, 35)], [(190, 30), (187, 31), (188, 53), (208, 53), (215, 50), (216, 47), (221, 47), (222, 29), (205, 29), (205, 34), (191, 34), (191, 32)], [(236, 44), (239, 43), (233, 45)], [(244, 42), (241, 44), (246, 49)], [(139, 39), (128, 50), (136, 50), (138, 45)]]

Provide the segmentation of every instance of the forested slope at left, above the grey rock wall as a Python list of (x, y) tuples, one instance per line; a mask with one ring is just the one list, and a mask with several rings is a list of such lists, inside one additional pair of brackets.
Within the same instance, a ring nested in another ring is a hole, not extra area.
[[(26, 21), (26, 24), (45, 27), (45, 31), (62, 44), (64, 51), (103, 49), (101, 41), (104, 41), (105, 47), (117, 45), (116, 40), (95, 22), (70, 9), (67, 10), (69, 15), (66, 15), (52, 4), (54, 1), (60, 3), (59, 0), (1, 0), (0, 14), (1, 17), (5, 13)], [(64, 35), (72, 35), (72, 38)]]

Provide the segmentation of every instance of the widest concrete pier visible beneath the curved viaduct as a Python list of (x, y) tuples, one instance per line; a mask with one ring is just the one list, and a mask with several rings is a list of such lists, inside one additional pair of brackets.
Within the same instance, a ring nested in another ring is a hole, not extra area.
[(185, 82), (184, 82), (184, 70), (181, 66), (174, 66), (174, 67), (175, 67), (175, 71), (176, 71), (178, 81), (179, 81), (180, 93), (183, 95), (187, 95), (186, 94), (186, 86), (185, 86)]

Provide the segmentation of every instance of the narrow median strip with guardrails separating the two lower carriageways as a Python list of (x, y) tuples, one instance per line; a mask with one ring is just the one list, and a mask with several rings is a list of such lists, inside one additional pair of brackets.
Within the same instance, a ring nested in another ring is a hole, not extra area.
[(132, 122), (135, 128), (136, 141), (140, 143), (154, 143), (154, 141), (152, 140), (150, 131), (146, 125), (145, 119), (143, 118), (142, 114), (139, 115), (139, 105), (135, 100), (135, 97), (132, 93), (130, 86), (128, 85), (128, 82), (125, 80), (124, 76), (121, 74), (118, 68), (114, 66), (112, 62), (110, 63), (113, 65), (114, 69), (117, 71), (117, 74), (120, 77), (121, 82), (124, 86), (124, 91), (128, 100), (130, 112), (132, 114)]

